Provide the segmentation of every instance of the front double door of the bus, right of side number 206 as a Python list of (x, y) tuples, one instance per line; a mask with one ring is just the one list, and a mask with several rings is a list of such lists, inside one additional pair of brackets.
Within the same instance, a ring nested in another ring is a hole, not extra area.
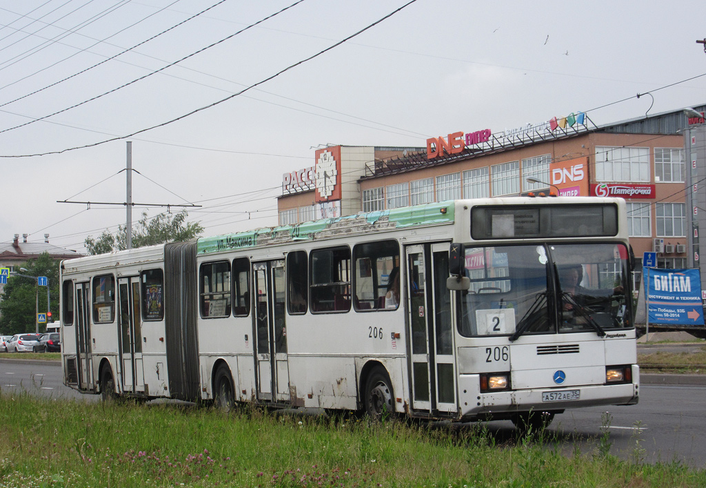
[(457, 411), (451, 297), (446, 289), (448, 243), (406, 248), (412, 354), (412, 408)]

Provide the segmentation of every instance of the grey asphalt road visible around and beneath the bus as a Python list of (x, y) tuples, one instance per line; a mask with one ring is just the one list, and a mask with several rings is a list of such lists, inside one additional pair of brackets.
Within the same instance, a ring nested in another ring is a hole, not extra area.
[[(550, 442), (556, 442), (567, 455), (577, 448), (589, 455), (603, 447), (626, 460), (645, 463), (676, 460), (691, 467), (704, 467), (706, 381), (678, 385), (672, 378), (671, 383), (643, 381), (638, 405), (575, 409), (557, 415), (548, 429), (549, 438), (556, 441)], [(0, 359), (0, 388), (4, 393), (27, 391), (57, 400), (100, 401), (99, 395), (82, 395), (64, 386), (58, 361)], [(497, 443), (516, 438), (513, 424), (508, 421), (489, 422), (487, 426)], [(458, 427), (463, 429), (467, 425)]]

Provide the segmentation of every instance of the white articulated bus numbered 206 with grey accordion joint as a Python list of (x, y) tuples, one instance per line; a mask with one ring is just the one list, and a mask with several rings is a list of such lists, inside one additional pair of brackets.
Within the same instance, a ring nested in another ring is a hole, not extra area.
[(638, 402), (630, 257), (623, 199), (512, 197), (66, 260), (64, 383), (547, 424)]

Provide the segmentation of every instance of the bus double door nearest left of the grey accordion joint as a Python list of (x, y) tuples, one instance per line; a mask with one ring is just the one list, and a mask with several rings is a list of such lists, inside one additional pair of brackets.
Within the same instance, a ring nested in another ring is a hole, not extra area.
[(145, 371), (142, 364), (142, 315), (140, 313), (139, 277), (118, 279), (118, 344), (124, 392), (145, 391)]

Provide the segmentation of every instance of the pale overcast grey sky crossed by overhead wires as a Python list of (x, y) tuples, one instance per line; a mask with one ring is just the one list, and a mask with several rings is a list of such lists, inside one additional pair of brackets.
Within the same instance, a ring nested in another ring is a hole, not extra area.
[(282, 174), (328, 144), (702, 105), (704, 18), (696, 0), (0, 0), (0, 242), (114, 233), (128, 141), (133, 202), (215, 236), (276, 225)]

